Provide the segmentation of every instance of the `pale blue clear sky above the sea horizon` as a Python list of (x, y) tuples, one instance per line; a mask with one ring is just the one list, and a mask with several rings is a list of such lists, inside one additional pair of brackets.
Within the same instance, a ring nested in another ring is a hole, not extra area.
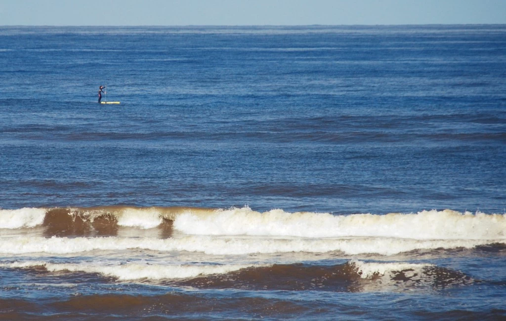
[(506, 0), (0, 0), (0, 25), (506, 24)]

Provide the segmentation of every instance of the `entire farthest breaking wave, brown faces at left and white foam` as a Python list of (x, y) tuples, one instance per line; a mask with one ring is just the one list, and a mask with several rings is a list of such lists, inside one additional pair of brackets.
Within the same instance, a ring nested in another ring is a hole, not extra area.
[(301, 238), (383, 237), (415, 240), (505, 240), (506, 214), (430, 210), (418, 213), (333, 215), (258, 212), (249, 207), (22, 208), (0, 210), (0, 228), (43, 226), (45, 236), (115, 236), (118, 228), (173, 229), (187, 235)]

